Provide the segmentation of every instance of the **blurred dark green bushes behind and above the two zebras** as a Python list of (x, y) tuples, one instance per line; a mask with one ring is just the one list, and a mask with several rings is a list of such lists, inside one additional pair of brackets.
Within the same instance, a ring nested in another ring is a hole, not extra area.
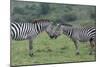
[(11, 21), (48, 19), (55, 23), (95, 25), (96, 6), (11, 1)]

